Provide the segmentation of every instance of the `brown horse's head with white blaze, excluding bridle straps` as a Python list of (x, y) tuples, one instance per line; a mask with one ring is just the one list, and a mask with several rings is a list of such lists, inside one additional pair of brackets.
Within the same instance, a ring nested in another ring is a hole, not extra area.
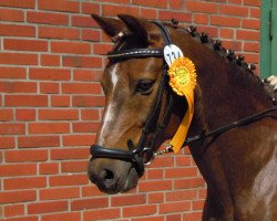
[[(119, 15), (121, 20), (93, 15), (105, 33), (115, 42), (114, 52), (133, 49), (163, 49), (164, 40), (160, 29), (143, 20), (130, 15)], [(110, 57), (101, 84), (106, 97), (104, 116), (98, 133), (95, 146), (132, 151), (138, 145), (158, 146), (171, 136), (174, 128), (166, 129), (158, 141), (150, 144), (155, 134), (155, 123), (165, 112), (168, 93), (161, 91), (164, 60), (160, 56), (132, 57), (132, 54)], [(165, 80), (166, 81), (166, 80)], [(167, 87), (167, 85), (165, 85)], [(153, 112), (160, 92), (158, 112)], [(174, 116), (171, 117), (174, 119)], [(142, 140), (147, 124), (147, 136)], [(138, 144), (144, 143), (144, 144)], [(103, 148), (102, 148), (103, 149)], [(143, 156), (146, 157), (147, 156)], [(89, 162), (89, 177), (100, 190), (107, 193), (127, 191), (137, 185), (142, 168), (133, 160), (94, 158)], [(142, 162), (140, 162), (142, 164)]]

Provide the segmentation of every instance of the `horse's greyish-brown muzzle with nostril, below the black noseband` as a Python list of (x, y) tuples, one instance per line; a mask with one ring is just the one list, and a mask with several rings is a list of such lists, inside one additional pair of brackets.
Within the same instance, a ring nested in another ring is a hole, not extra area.
[(89, 162), (88, 176), (100, 191), (107, 194), (126, 192), (137, 186), (138, 175), (134, 167), (130, 166), (129, 169), (125, 169), (125, 172), (117, 167), (112, 167), (112, 169), (95, 170), (93, 160), (91, 160)]

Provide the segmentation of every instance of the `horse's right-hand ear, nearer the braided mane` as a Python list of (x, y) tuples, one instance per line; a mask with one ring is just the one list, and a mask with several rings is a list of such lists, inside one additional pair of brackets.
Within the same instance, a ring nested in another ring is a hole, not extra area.
[(147, 31), (142, 20), (136, 19), (129, 14), (119, 14), (117, 17), (125, 23), (125, 25), (131, 32), (135, 33), (142, 40), (146, 42), (148, 41)]

